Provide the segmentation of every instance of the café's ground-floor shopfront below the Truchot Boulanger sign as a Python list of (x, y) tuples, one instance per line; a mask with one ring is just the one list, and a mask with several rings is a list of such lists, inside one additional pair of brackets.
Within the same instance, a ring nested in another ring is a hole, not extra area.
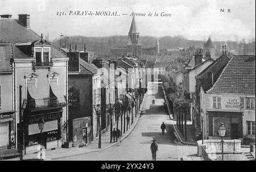
[(241, 139), (243, 137), (242, 130), (242, 113), (241, 112), (220, 112), (208, 111), (209, 139), (220, 139), (218, 128), (221, 123), (226, 127), (225, 139)]

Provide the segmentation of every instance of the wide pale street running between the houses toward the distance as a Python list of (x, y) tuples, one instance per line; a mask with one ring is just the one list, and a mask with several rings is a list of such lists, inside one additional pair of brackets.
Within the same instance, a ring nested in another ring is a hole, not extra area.
[[(151, 90), (148, 90), (150, 93)], [(154, 92), (154, 91), (153, 91)], [(151, 104), (152, 99), (155, 104)], [(164, 110), (163, 91), (159, 87), (156, 94), (147, 94), (141, 117), (134, 130), (121, 143), (97, 153), (63, 158), (61, 160), (151, 160), (150, 144), (155, 138), (158, 143), (156, 160), (180, 160), (181, 156), (196, 154), (196, 146), (180, 145), (172, 131), (171, 121)], [(167, 133), (162, 135), (160, 125), (166, 123)]]

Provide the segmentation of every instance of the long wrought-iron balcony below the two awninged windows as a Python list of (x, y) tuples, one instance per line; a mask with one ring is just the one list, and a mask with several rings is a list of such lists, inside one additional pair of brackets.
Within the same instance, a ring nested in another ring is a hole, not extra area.
[(50, 110), (64, 106), (67, 106), (67, 97), (65, 96), (61, 98), (24, 99), (22, 104), (23, 110), (27, 111)]

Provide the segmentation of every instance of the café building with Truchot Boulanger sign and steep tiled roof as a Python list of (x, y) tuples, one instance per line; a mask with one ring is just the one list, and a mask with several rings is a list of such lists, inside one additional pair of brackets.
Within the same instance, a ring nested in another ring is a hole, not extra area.
[(219, 139), (224, 123), (225, 139), (255, 142), (255, 56), (233, 56), (210, 89), (201, 89), (206, 136)]

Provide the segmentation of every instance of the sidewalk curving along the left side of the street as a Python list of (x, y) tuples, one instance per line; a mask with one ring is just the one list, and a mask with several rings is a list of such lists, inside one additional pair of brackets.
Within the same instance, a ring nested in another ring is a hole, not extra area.
[[(144, 95), (145, 99), (146, 94)], [(82, 154), (88, 154), (88, 153), (93, 153), (93, 152), (99, 152), (101, 150), (108, 149), (114, 145), (117, 145), (122, 142), (123, 139), (125, 139), (131, 131), (133, 131), (135, 125), (138, 123), (138, 119), (141, 115), (141, 112), (143, 111), (143, 104), (144, 104), (144, 99), (141, 104), (141, 109), (138, 111), (137, 118), (135, 118), (135, 110), (134, 110), (134, 121), (133, 125), (130, 124), (130, 128), (128, 127), (128, 130), (125, 131), (125, 133), (122, 133), (122, 136), (118, 138), (117, 142), (112, 142), (110, 144), (110, 131), (106, 131), (105, 133), (102, 133), (101, 135), (101, 149), (98, 149), (98, 139), (92, 141), (88, 146), (84, 146), (82, 148), (78, 147), (72, 147), (72, 148), (59, 148), (55, 150), (45, 150), (46, 152), (46, 161), (49, 160), (58, 160), (61, 158), (66, 158), (66, 157), (74, 157), (74, 156), (79, 156)], [(130, 120), (131, 123), (131, 120)], [(113, 124), (113, 128), (116, 128), (116, 123)], [(118, 128), (121, 130), (121, 119), (119, 119), (118, 123)], [(113, 140), (112, 140), (113, 141)], [(38, 154), (40, 155), (40, 152), (38, 153), (33, 153), (33, 154), (27, 154), (23, 157), (23, 160), (38, 160)], [(19, 158), (13, 158), (9, 160), (4, 160), (4, 161), (19, 161)]]

